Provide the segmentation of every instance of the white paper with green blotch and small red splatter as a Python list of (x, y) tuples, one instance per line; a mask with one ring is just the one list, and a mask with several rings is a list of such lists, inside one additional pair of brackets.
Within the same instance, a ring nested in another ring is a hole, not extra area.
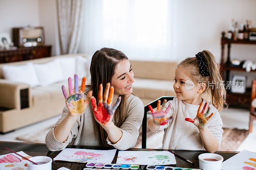
[(170, 165), (176, 164), (175, 157), (167, 151), (119, 151), (117, 164)]

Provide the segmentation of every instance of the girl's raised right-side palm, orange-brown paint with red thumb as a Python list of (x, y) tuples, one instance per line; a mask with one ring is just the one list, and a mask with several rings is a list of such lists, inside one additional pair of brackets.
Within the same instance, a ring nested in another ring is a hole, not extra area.
[(190, 119), (190, 118), (186, 118), (185, 119), (185, 121), (194, 123), (194, 125), (196, 125), (196, 127), (198, 129), (204, 129), (206, 123), (208, 122), (208, 120), (213, 115), (213, 113), (212, 113), (210, 116), (206, 117), (209, 114), (209, 112), (210, 112), (210, 107), (208, 107), (207, 112), (204, 114), (204, 111), (205, 111), (205, 108), (207, 106), (207, 103), (204, 104), (204, 108), (200, 112), (200, 109), (201, 109), (202, 105), (203, 105), (203, 103), (200, 104), (200, 106), (199, 106), (199, 108), (197, 110), (197, 115), (196, 115), (195, 119)]

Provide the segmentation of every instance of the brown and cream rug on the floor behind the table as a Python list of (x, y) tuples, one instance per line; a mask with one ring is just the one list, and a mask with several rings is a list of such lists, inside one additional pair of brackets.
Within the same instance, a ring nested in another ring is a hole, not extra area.
[[(41, 130), (40, 132), (30, 132), (24, 135), (21, 135), (17, 137), (16, 139), (25, 141), (25, 142), (30, 142), (30, 143), (45, 143), (45, 136), (50, 130), (51, 127), (45, 128)], [(218, 151), (236, 151), (236, 149), (240, 146), (240, 144), (244, 141), (244, 139), (247, 137), (249, 134), (248, 130), (240, 130), (240, 129), (228, 129), (228, 128), (223, 128), (224, 132), (222, 135), (222, 141), (220, 144), (220, 148)], [(139, 129), (139, 137), (137, 140), (136, 145), (134, 146), (135, 148), (141, 148), (141, 133), (142, 129), (140, 127)], [(157, 133), (163, 133), (163, 132), (157, 132)], [(149, 145), (150, 148), (154, 148), (156, 146), (156, 142), (159, 144), (162, 143), (162, 138), (159, 138), (159, 135), (157, 136), (157, 133), (152, 132), (149, 128), (147, 128), (147, 147)], [(155, 137), (155, 138), (154, 138)], [(159, 147), (155, 148), (158, 149)]]

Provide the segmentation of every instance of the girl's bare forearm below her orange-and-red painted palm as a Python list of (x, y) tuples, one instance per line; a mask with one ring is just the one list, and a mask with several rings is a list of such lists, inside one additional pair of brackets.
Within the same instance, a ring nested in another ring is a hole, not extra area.
[(200, 136), (206, 151), (214, 153), (219, 149), (219, 141), (212, 135), (207, 126), (204, 129), (199, 129)]

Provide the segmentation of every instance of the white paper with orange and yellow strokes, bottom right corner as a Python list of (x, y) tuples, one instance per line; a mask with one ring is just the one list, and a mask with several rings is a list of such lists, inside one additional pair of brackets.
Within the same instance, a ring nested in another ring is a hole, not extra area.
[(222, 170), (256, 169), (256, 152), (242, 151), (222, 163)]

